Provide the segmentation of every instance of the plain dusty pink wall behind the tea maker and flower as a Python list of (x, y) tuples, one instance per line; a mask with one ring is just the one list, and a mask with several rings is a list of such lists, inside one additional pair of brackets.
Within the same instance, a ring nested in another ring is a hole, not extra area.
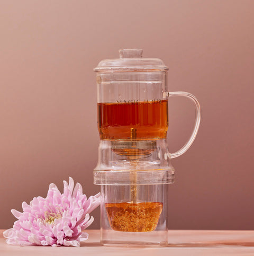
[[(170, 91), (202, 106), (193, 146), (172, 161), (169, 228), (254, 229), (253, 28), (252, 0), (0, 1), (0, 228), (51, 182), (62, 190), (72, 176), (87, 196), (99, 191), (93, 68), (143, 48), (169, 66)], [(169, 106), (173, 152), (194, 110)]]

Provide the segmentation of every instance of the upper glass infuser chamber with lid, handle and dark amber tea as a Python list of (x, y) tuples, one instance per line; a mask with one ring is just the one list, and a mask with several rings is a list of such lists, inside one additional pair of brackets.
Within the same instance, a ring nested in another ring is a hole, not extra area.
[[(102, 60), (97, 72), (98, 130), (101, 140), (112, 145), (125, 142), (141, 145), (142, 141), (166, 139), (168, 129), (168, 98), (184, 96), (192, 100), (195, 125), (186, 144), (170, 158), (185, 153), (192, 145), (201, 119), (199, 103), (187, 92), (169, 92), (167, 70), (162, 60), (142, 58), (142, 49), (119, 50), (119, 59)], [(140, 151), (139, 151), (140, 152)]]

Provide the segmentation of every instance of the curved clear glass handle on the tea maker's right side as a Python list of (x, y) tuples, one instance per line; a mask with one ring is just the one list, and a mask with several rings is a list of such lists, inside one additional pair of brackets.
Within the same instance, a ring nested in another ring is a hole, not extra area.
[(200, 104), (197, 101), (196, 97), (193, 94), (190, 94), (188, 92), (164, 92), (164, 98), (166, 98), (166, 96), (168, 96), (168, 97), (184, 96), (193, 101), (193, 103), (195, 104), (195, 109), (196, 109), (195, 126), (192, 131), (192, 135), (190, 136), (190, 138), (188, 139), (188, 141), (185, 143), (185, 145), (182, 148), (180, 148), (178, 151), (176, 151), (174, 153), (170, 153), (170, 158), (175, 158), (180, 155), (183, 155), (187, 151), (187, 149), (193, 144), (194, 139), (196, 138), (196, 135), (197, 135), (199, 124), (200, 124), (201, 109), (200, 109)]

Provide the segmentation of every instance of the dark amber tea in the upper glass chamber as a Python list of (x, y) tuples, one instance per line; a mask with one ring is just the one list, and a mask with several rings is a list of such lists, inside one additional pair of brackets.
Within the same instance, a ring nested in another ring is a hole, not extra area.
[(165, 139), (168, 100), (97, 103), (101, 139)]

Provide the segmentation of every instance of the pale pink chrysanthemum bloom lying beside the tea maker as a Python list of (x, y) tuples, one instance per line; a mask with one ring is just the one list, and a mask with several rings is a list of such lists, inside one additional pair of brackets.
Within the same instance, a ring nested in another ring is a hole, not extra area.
[(72, 245), (88, 239), (82, 231), (92, 224), (89, 217), (101, 201), (100, 194), (86, 198), (79, 183), (64, 181), (64, 193), (54, 183), (49, 186), (46, 198), (34, 197), (30, 205), (22, 203), (23, 213), (12, 209), (18, 219), (13, 228), (4, 232), (7, 244), (13, 245)]

